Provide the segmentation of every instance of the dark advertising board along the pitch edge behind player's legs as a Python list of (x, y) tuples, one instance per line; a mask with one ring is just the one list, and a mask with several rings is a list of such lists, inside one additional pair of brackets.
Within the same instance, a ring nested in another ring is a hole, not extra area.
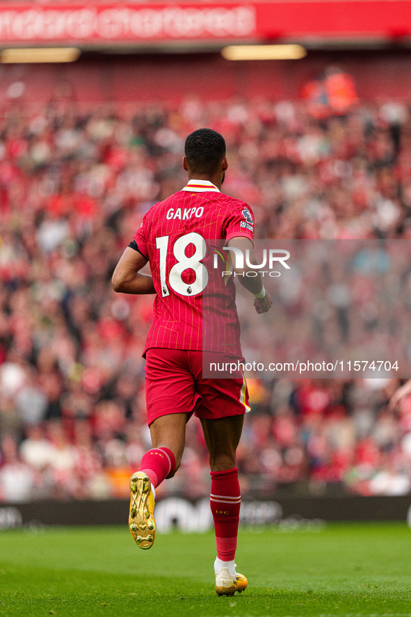
[[(46, 525), (124, 525), (127, 529), (128, 499), (36, 501), (0, 504), (0, 532), (24, 528), (36, 531)], [(241, 502), (240, 524), (275, 526), (284, 531), (317, 531), (325, 522), (402, 521), (411, 527), (411, 495), (393, 497), (269, 497)], [(156, 500), (158, 531), (208, 531), (213, 527), (209, 497), (196, 502), (182, 496)]]

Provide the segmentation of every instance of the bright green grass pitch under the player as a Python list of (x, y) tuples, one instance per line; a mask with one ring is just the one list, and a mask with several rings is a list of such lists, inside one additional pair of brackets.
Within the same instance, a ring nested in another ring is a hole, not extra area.
[(211, 533), (143, 551), (127, 525), (0, 531), (0, 616), (411, 617), (405, 524), (241, 529), (233, 598), (215, 595), (214, 559)]

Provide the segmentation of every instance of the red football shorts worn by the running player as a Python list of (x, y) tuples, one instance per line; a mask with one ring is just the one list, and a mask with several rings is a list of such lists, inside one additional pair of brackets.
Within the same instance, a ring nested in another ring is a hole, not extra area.
[(169, 413), (217, 419), (250, 411), (245, 378), (203, 379), (202, 351), (188, 349), (147, 349), (145, 398), (149, 426)]

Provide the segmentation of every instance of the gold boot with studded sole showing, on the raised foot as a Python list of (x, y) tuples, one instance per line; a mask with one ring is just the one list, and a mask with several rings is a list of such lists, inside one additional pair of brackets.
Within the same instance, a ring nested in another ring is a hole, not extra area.
[(143, 549), (151, 548), (156, 537), (154, 520), (154, 495), (150, 478), (144, 472), (136, 472), (130, 479), (129, 529), (136, 544)]

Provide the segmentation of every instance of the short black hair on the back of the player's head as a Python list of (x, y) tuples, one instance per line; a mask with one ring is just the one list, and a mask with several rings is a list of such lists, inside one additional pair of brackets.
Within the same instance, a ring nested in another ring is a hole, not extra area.
[(186, 138), (184, 154), (192, 173), (214, 173), (225, 157), (224, 138), (212, 129), (198, 129)]

